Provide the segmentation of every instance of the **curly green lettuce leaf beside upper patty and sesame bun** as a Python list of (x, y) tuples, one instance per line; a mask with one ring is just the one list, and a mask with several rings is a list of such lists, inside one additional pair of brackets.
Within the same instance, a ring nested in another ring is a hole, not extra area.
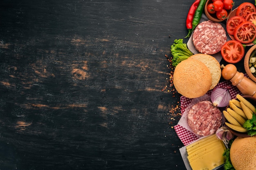
[(173, 55), (172, 65), (176, 67), (181, 61), (188, 59), (193, 53), (183, 43), (183, 39), (175, 39), (171, 45), (171, 54)]

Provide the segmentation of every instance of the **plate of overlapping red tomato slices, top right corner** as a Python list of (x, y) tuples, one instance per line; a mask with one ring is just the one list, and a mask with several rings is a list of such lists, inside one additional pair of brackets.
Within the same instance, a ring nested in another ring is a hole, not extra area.
[(233, 40), (245, 46), (254, 45), (256, 39), (256, 7), (244, 2), (234, 9), (227, 19), (227, 33)]

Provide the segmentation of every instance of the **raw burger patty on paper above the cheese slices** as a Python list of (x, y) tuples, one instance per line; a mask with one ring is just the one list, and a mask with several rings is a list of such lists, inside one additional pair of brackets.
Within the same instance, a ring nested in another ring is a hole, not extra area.
[(210, 101), (198, 102), (189, 110), (188, 124), (198, 135), (211, 135), (217, 131), (222, 122), (222, 114)]

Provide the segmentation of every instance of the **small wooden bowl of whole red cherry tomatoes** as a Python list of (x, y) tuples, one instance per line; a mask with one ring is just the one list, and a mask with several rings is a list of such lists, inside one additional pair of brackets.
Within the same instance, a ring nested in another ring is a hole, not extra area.
[(204, 13), (209, 20), (222, 22), (229, 17), (233, 6), (233, 0), (207, 0)]

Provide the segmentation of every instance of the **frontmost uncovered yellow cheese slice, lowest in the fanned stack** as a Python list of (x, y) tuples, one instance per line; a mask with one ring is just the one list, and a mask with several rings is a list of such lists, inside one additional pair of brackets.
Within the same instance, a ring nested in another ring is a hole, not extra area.
[(192, 170), (213, 170), (224, 163), (225, 148), (220, 146), (190, 162)]

